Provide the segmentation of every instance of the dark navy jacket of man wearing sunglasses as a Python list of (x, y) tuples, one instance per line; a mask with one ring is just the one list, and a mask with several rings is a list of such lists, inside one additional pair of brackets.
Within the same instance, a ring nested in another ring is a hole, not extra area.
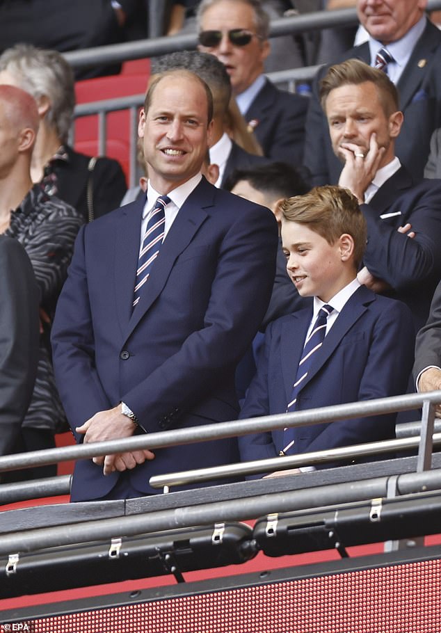
[(266, 79), (244, 116), (267, 158), (302, 165), (308, 102)]

